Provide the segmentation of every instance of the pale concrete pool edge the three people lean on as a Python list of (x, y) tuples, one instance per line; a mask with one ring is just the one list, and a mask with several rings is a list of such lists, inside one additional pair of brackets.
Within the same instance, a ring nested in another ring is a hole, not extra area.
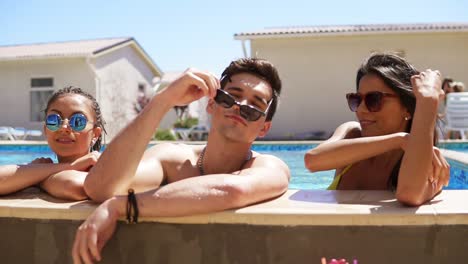
[[(141, 221), (268, 226), (468, 225), (466, 200), (468, 190), (444, 190), (427, 204), (406, 207), (388, 191), (288, 190), (277, 199), (241, 209)], [(84, 220), (96, 206), (89, 201), (58, 200), (29, 188), (0, 197), (0, 218)]]

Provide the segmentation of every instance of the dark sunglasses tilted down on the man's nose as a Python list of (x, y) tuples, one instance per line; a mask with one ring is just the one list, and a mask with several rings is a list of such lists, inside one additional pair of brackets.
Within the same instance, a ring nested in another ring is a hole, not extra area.
[(216, 96), (214, 98), (215, 102), (224, 108), (231, 108), (234, 104), (239, 106), (240, 115), (247, 121), (257, 121), (262, 116), (266, 116), (268, 113), (268, 109), (270, 108), (271, 102), (273, 99), (268, 102), (267, 109), (265, 112), (260, 111), (259, 109), (251, 106), (251, 105), (244, 105), (236, 101), (234, 97), (232, 97), (228, 92), (218, 89), (216, 91)]

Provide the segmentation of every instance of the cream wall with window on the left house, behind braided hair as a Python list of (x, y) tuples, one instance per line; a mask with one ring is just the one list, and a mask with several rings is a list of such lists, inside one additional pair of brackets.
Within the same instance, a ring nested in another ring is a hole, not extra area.
[[(84, 59), (0, 62), (0, 126), (43, 128), (30, 121), (31, 78), (54, 78), (55, 90), (78, 86), (94, 94), (94, 80)], [(44, 106), (45, 108), (45, 106)]]

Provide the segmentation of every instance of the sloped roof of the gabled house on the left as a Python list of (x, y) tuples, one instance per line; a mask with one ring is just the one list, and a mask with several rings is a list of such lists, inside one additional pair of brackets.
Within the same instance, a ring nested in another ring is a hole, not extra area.
[(153, 72), (161, 76), (163, 74), (161, 69), (153, 62), (138, 42), (131, 37), (0, 46), (0, 61), (96, 57), (113, 48), (131, 44), (135, 45), (135, 48), (143, 56), (143, 59), (150, 64)]

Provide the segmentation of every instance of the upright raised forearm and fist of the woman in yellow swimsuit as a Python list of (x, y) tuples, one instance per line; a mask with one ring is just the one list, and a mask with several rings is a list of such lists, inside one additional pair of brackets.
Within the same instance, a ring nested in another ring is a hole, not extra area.
[(411, 78), (416, 96), (413, 126), (405, 146), (396, 197), (409, 205), (421, 205), (448, 185), (450, 167), (433, 147), (437, 107), (443, 91), (440, 74), (426, 70)]

